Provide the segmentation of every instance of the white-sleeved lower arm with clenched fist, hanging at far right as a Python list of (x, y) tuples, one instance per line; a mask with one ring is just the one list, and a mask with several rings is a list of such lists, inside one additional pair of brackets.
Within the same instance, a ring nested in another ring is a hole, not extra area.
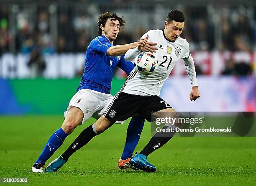
[(190, 79), (190, 82), (191, 82), (191, 85), (192, 85), (192, 90), (189, 94), (189, 99), (191, 101), (193, 101), (193, 100), (195, 101), (201, 95), (200, 95), (200, 92), (198, 90), (195, 64), (194, 64), (194, 60), (193, 60), (191, 55), (189, 55), (189, 57), (187, 59), (184, 59), (184, 64), (185, 64), (185, 67), (186, 67), (187, 75), (189, 76), (189, 79)]

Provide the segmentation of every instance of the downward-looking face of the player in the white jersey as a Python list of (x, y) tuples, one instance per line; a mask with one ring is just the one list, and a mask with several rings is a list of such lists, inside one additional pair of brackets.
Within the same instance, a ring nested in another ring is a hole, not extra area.
[(173, 20), (171, 23), (167, 23), (167, 21), (164, 22), (164, 27), (165, 27), (165, 36), (171, 41), (176, 41), (176, 39), (180, 36), (180, 34), (183, 31), (184, 28), (184, 22), (176, 22)]

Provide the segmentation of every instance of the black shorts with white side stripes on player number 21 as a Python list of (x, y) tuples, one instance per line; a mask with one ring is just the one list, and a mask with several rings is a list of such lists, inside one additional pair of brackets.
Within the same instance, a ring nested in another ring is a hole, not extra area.
[(172, 108), (158, 96), (139, 96), (118, 92), (108, 105), (103, 116), (111, 122), (127, 120), (138, 113), (151, 122), (151, 113)]

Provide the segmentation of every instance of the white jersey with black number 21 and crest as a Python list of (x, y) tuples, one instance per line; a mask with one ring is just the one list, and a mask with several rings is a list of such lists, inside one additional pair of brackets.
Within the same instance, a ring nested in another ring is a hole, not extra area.
[(168, 78), (175, 64), (182, 59), (188, 58), (189, 44), (186, 39), (177, 38), (175, 42), (169, 41), (164, 36), (163, 30), (151, 30), (145, 33), (142, 38), (149, 36), (148, 42), (157, 43), (158, 50), (153, 55), (158, 61), (158, 69), (150, 75), (135, 73), (128, 76), (121, 92), (142, 96), (160, 95), (164, 81)]

